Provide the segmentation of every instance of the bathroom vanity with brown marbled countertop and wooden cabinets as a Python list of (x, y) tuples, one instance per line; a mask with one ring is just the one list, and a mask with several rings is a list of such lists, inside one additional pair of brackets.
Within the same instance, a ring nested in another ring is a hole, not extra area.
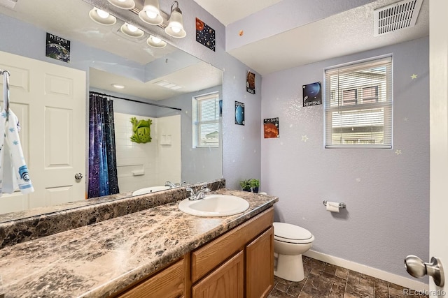
[(250, 207), (200, 217), (180, 211), (178, 199), (3, 247), (5, 297), (267, 297), (278, 198), (215, 193), (239, 196)]

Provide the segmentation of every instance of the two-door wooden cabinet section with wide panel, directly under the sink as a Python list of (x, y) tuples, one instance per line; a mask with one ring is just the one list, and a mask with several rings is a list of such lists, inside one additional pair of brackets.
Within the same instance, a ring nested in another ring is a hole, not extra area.
[(273, 221), (269, 208), (193, 251), (192, 298), (267, 297), (274, 283)]

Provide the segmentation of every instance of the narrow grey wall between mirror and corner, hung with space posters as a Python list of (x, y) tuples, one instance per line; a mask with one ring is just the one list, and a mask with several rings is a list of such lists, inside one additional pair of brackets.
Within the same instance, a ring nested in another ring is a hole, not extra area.
[[(160, 7), (167, 5), (162, 1)], [(246, 91), (246, 74), (249, 68), (225, 52), (225, 27), (198, 6), (193, 0), (181, 3), (186, 38), (169, 41), (224, 70), (223, 76), (223, 177), (228, 188), (240, 189), (242, 179), (260, 179), (260, 123), (262, 78), (255, 72), (255, 94)], [(167, 11), (167, 10), (165, 10)], [(216, 52), (195, 41), (195, 17), (208, 24), (216, 33)], [(165, 36), (165, 33), (162, 33)], [(191, 37), (190, 37), (191, 36)], [(252, 70), (253, 71), (253, 70)], [(244, 126), (235, 124), (235, 101), (245, 105)]]

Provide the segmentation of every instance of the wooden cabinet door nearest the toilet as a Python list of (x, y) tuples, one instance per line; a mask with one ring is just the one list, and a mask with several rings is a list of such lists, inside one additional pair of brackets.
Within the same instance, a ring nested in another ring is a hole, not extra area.
[(246, 246), (246, 298), (267, 297), (274, 286), (274, 228)]

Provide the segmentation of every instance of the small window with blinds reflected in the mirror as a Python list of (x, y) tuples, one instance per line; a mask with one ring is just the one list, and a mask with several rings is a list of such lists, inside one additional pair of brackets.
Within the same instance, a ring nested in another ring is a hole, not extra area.
[(219, 147), (218, 92), (193, 97), (193, 147)]

